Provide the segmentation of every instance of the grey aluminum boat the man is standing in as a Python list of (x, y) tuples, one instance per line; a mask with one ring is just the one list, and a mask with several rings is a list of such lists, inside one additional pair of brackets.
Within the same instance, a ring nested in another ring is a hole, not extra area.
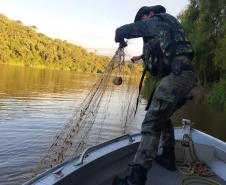
[[(170, 172), (153, 162), (146, 185), (226, 185), (226, 143), (191, 128), (190, 120), (183, 119), (182, 123), (182, 127), (174, 128), (177, 161), (189, 163), (196, 158), (213, 175), (191, 176), (180, 167)], [(113, 177), (127, 168), (140, 139), (140, 134), (124, 135), (87, 148), (80, 156), (49, 169), (25, 185), (111, 185)]]

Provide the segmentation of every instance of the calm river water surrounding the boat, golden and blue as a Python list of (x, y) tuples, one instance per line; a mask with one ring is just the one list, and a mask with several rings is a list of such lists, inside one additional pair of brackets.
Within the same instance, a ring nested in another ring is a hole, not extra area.
[[(98, 78), (69, 71), (0, 65), (0, 184), (26, 181), (24, 176), (38, 164), (52, 138), (72, 118)], [(95, 126), (90, 145), (123, 134), (118, 123), (125, 91), (115, 88), (111, 96), (108, 111), (103, 111), (104, 105), (100, 108), (97, 118), (104, 124)], [(145, 102), (139, 106), (127, 133), (139, 132)], [(174, 125), (180, 125), (182, 118), (191, 119), (195, 128), (226, 141), (226, 114), (200, 99), (195, 98), (180, 109), (173, 116)]]

